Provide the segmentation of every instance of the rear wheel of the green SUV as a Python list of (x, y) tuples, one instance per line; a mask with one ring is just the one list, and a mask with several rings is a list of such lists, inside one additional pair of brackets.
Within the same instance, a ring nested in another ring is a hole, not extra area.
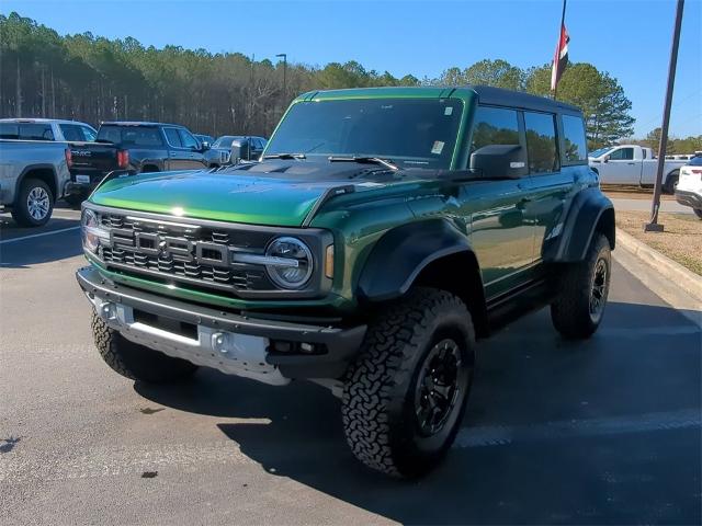
[(607, 306), (611, 268), (610, 243), (596, 233), (585, 260), (565, 268), (559, 296), (551, 304), (551, 319), (563, 336), (586, 339), (597, 331)]

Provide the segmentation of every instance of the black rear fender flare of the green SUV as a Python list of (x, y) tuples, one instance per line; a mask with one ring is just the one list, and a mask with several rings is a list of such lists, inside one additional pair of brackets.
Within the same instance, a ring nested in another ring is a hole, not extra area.
[(556, 238), (555, 243), (544, 247), (544, 261), (553, 263), (582, 261), (597, 230), (602, 231), (613, 250), (614, 205), (600, 188), (589, 187), (573, 198), (561, 236)]

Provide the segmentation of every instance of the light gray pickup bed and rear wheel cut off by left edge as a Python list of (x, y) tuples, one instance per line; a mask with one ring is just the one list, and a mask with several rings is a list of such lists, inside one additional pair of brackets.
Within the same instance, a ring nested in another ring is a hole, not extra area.
[(0, 139), (0, 205), (18, 225), (41, 227), (70, 181), (67, 142)]

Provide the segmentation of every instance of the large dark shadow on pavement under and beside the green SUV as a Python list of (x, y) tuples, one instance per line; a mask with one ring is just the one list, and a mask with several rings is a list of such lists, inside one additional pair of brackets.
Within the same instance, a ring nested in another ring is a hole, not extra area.
[(699, 419), (675, 415), (700, 412), (701, 342), (666, 306), (610, 302), (577, 343), (535, 312), (480, 344), (456, 445), (416, 481), (356, 462), (339, 400), (314, 385), (203, 370), (190, 386), (135, 388), (183, 411), (267, 419), (217, 426), (269, 473), (405, 524), (700, 524)]

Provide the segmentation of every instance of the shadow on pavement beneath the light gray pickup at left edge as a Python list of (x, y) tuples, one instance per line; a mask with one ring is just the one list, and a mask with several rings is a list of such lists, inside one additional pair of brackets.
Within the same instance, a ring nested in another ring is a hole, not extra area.
[[(12, 220), (3, 220), (0, 225), (0, 240), (8, 242), (0, 244), (0, 265), (3, 268), (29, 268), (82, 253), (78, 229), (80, 219), (54, 218), (49, 226), (20, 228)], [(44, 233), (46, 236), (36, 236)], [(36, 237), (29, 238), (30, 236)], [(20, 240), (24, 237), (29, 239)], [(18, 241), (12, 241), (13, 239)]]

